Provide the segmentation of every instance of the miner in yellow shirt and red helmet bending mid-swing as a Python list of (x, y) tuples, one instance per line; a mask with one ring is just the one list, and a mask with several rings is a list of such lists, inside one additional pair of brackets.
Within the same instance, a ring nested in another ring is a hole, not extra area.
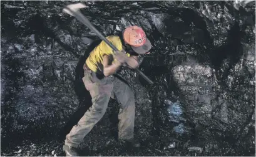
[(126, 52), (133, 50), (135, 54), (147, 54), (151, 49), (150, 40), (138, 26), (130, 26), (125, 29), (122, 37), (106, 37), (111, 44), (119, 50), (114, 52), (103, 40), (90, 53), (84, 64), (83, 82), (90, 92), (93, 105), (84, 113), (78, 124), (66, 135), (63, 150), (66, 156), (78, 156), (76, 147), (83, 141), (93, 126), (103, 117), (111, 98), (120, 103), (118, 115), (118, 140), (134, 147), (140, 147), (140, 142), (134, 138), (135, 122), (135, 97), (131, 88), (117, 77), (113, 76), (122, 66), (131, 69), (138, 67), (138, 57)]

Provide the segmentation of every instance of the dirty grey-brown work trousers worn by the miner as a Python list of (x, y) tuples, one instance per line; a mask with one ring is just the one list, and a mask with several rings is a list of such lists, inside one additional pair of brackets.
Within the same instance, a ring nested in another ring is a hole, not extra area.
[(98, 79), (95, 72), (84, 70), (83, 82), (91, 94), (93, 105), (84, 113), (78, 124), (66, 135), (65, 145), (78, 147), (93, 126), (103, 117), (111, 98), (120, 103), (118, 138), (133, 138), (135, 97), (131, 88), (116, 77)]

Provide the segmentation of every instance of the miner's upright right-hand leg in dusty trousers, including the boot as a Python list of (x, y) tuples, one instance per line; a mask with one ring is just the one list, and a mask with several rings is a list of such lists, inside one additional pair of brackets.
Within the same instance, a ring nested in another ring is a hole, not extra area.
[(114, 95), (116, 100), (120, 103), (120, 112), (118, 114), (118, 138), (131, 142), (133, 146), (140, 146), (138, 141), (134, 139), (134, 121), (135, 121), (135, 97), (131, 88), (120, 79), (114, 80)]

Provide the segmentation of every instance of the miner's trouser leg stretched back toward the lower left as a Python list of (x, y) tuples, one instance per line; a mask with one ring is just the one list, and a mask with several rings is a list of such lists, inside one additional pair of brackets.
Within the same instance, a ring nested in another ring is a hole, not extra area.
[(78, 124), (73, 126), (66, 136), (65, 145), (78, 147), (93, 126), (100, 121), (106, 112), (110, 95), (113, 90), (113, 82), (108, 79), (102, 82), (92, 82), (91, 75), (84, 73), (83, 82), (86, 89), (90, 91), (93, 105), (84, 113)]

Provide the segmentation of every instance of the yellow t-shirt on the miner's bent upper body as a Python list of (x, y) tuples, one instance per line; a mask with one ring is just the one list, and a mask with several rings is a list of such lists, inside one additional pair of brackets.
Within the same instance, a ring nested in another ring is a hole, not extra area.
[[(121, 43), (120, 37), (118, 36), (108, 36), (106, 37), (118, 50), (123, 50), (123, 45)], [(93, 70), (93, 72), (98, 72), (103, 70), (103, 55), (113, 55), (113, 49), (106, 44), (103, 40), (101, 43), (93, 49), (89, 57), (86, 59), (86, 65)], [(130, 54), (127, 54), (130, 57)]]

